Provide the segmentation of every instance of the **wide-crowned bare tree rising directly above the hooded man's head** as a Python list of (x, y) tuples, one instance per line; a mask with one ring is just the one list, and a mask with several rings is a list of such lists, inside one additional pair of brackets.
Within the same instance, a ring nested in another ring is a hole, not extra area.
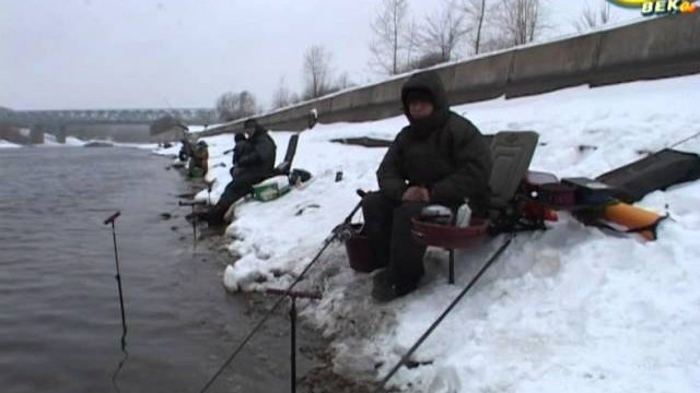
[(452, 60), (469, 33), (465, 16), (455, 0), (444, 1), (440, 11), (428, 16), (420, 35), (423, 57), (438, 53), (441, 62)]

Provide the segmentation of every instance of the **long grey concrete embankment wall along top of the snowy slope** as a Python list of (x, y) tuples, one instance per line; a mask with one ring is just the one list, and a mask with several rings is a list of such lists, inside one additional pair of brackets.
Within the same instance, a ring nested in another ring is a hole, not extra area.
[[(583, 84), (595, 87), (700, 73), (700, 13), (650, 19), (434, 70), (442, 76), (453, 105), (536, 95)], [(316, 109), (318, 120), (324, 123), (400, 115), (400, 86), (407, 78), (320, 97), (258, 119), (271, 130), (300, 131), (307, 128), (312, 109)], [(242, 128), (242, 121), (233, 121), (202, 134), (236, 132)]]

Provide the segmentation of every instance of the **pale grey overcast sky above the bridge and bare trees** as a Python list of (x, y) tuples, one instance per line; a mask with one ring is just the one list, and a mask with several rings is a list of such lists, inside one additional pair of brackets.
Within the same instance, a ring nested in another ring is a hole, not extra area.
[[(440, 2), (412, 0), (412, 16), (420, 21)], [(281, 78), (302, 90), (302, 57), (316, 44), (330, 49), (337, 73), (366, 83), (377, 78), (368, 44), (380, 3), (0, 0), (0, 106), (213, 107), (222, 93), (242, 90), (267, 106)], [(572, 33), (583, 3), (548, 0), (548, 35)], [(639, 11), (615, 12), (618, 21), (639, 17)]]

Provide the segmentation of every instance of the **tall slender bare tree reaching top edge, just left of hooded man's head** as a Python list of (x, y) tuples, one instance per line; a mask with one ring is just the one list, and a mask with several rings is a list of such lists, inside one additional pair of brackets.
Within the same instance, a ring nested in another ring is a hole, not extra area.
[(401, 51), (406, 46), (407, 16), (407, 0), (382, 0), (377, 15), (370, 24), (374, 34), (370, 43), (370, 64), (384, 73), (395, 75), (402, 72)]

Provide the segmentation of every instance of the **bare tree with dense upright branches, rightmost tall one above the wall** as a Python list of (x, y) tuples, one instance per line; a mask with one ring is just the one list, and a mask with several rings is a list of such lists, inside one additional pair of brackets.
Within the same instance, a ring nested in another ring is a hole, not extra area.
[(509, 46), (534, 41), (545, 27), (540, 0), (506, 0), (497, 17), (499, 35)]

